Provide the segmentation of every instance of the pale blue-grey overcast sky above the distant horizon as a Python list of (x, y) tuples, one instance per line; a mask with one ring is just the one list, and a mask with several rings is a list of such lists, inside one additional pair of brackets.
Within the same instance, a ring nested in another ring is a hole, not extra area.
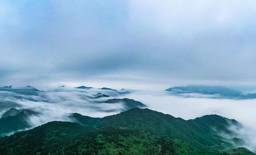
[(256, 1), (3, 0), (0, 86), (256, 85)]

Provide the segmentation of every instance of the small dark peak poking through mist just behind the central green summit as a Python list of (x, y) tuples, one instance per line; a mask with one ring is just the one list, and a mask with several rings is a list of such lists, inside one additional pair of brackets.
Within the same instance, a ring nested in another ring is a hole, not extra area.
[(146, 107), (146, 105), (144, 105), (142, 102), (135, 101), (135, 100), (132, 100), (132, 99), (129, 99), (129, 98), (109, 99), (109, 100), (106, 100), (105, 103), (122, 103), (124, 105), (124, 109), (125, 110), (132, 109), (132, 108), (143, 108), (143, 107)]

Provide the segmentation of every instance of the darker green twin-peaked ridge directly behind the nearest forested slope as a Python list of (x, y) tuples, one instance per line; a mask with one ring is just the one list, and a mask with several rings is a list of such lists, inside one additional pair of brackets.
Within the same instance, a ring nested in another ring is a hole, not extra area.
[[(84, 117), (84, 119), (83, 119)], [(226, 119), (218, 115), (211, 115), (212, 119), (217, 119), (219, 124), (214, 121), (212, 124), (205, 125), (206, 117), (201, 117), (195, 121), (183, 120), (171, 115), (166, 115), (150, 109), (133, 108), (117, 115), (103, 117), (94, 122), (94, 126), (101, 127), (116, 127), (122, 129), (138, 129), (140, 131), (150, 131), (158, 136), (170, 136), (173, 138), (181, 139), (186, 142), (195, 144), (204, 144), (208, 146), (215, 146), (219, 149), (225, 149), (232, 146), (228, 140), (218, 136), (217, 131), (213, 128), (219, 128), (223, 131), (229, 131)], [(216, 117), (216, 118), (215, 118)], [(88, 126), (91, 124), (92, 119), (88, 116), (74, 116), (79, 123)], [(230, 131), (229, 131), (230, 132)]]

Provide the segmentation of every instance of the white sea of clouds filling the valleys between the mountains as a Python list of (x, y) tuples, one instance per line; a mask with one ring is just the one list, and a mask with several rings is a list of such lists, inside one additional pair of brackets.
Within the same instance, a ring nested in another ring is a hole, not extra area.
[[(110, 97), (94, 98), (97, 93)], [(111, 98), (131, 98), (142, 102), (147, 108), (189, 120), (204, 115), (217, 114), (228, 119), (235, 119), (243, 128), (232, 128), (248, 144), (245, 147), (255, 150), (256, 146), (256, 99), (230, 100), (207, 98), (200, 94), (172, 96), (166, 91), (140, 90), (131, 93), (101, 89), (54, 88), (38, 92), (36, 95), (25, 95), (15, 92), (0, 91), (0, 115), (14, 107), (29, 109), (39, 113), (29, 117), (31, 127), (49, 121), (71, 121), (69, 113), (80, 113), (91, 117), (104, 117), (120, 113), (122, 103), (108, 104), (104, 101)], [(223, 136), (223, 135), (222, 135)], [(232, 138), (232, 137), (230, 137)]]

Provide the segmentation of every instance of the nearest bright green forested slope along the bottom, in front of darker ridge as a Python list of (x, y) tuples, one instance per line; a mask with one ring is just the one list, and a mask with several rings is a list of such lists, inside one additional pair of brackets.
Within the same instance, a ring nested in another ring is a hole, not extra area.
[(214, 148), (133, 129), (90, 130), (54, 121), (0, 139), (0, 155), (226, 155)]

